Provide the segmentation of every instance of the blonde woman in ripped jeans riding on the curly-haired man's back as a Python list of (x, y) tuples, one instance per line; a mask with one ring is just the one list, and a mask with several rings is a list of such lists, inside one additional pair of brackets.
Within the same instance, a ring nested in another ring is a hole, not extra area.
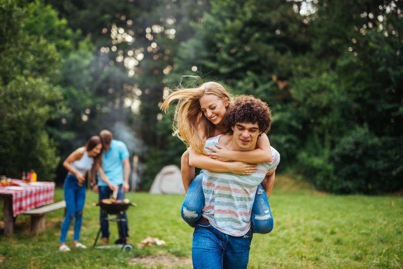
[[(201, 217), (205, 204), (202, 181), (203, 170), (194, 177), (194, 167), (212, 172), (230, 172), (238, 175), (250, 175), (256, 170), (257, 163), (270, 163), (273, 160), (270, 142), (265, 134), (257, 139), (256, 149), (248, 152), (230, 151), (216, 146), (209, 147), (206, 153), (204, 144), (208, 138), (227, 132), (225, 113), (231, 105), (232, 97), (219, 83), (207, 82), (197, 88), (177, 89), (172, 92), (161, 106), (168, 111), (172, 101), (178, 100), (174, 114), (174, 135), (188, 147), (181, 158), (181, 174), (186, 196), (181, 208), (183, 220), (195, 227)], [(274, 151), (276, 154), (277, 151)], [(266, 182), (266, 192), (258, 186), (252, 209), (252, 229), (255, 233), (268, 233), (273, 229), (272, 216), (267, 197), (274, 181)]]

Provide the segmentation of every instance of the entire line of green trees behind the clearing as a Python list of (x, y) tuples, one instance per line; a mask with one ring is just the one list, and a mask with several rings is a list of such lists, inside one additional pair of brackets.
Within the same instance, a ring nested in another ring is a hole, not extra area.
[(400, 1), (0, 0), (0, 7), (2, 174), (33, 168), (60, 182), (60, 160), (108, 128), (140, 155), (148, 189), (185, 150), (159, 103), (179, 82), (214, 80), (270, 104), (280, 171), (337, 193), (403, 185)]

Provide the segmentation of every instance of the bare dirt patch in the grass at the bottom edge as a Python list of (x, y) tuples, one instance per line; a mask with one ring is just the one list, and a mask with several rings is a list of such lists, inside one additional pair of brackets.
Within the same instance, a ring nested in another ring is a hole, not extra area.
[(164, 268), (176, 267), (192, 267), (192, 259), (185, 257), (177, 257), (174, 255), (147, 255), (142, 257), (131, 258), (130, 264), (141, 264), (145, 267), (154, 268), (163, 266)]

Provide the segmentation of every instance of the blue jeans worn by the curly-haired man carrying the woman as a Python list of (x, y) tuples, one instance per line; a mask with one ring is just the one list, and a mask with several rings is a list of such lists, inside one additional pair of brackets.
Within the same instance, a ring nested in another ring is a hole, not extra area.
[(249, 261), (252, 231), (243, 236), (220, 232), (199, 222), (193, 232), (192, 262), (195, 269), (246, 268)]

